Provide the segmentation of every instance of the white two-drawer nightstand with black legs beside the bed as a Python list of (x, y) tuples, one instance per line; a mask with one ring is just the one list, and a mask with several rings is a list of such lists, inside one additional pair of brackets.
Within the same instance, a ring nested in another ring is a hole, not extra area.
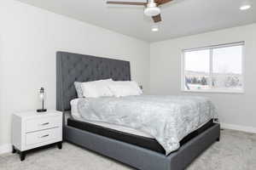
[(20, 153), (20, 161), (26, 151), (47, 144), (58, 144), (62, 147), (62, 112), (26, 111), (15, 113), (12, 119), (13, 153)]

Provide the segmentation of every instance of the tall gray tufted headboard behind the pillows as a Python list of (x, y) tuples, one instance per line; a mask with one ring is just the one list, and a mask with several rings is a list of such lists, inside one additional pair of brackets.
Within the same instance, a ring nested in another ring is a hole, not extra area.
[(131, 80), (130, 62), (84, 54), (57, 52), (57, 111), (70, 111), (70, 100), (77, 98), (73, 82), (89, 82), (107, 78), (113, 78), (115, 81)]

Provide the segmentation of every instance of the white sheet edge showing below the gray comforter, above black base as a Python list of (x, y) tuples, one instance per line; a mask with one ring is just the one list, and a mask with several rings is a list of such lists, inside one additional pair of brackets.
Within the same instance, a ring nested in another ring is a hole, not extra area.
[(115, 125), (115, 124), (109, 124), (109, 123), (105, 123), (105, 122), (95, 122), (95, 121), (89, 121), (89, 120), (84, 119), (82, 116), (80, 116), (79, 111), (78, 111), (78, 100), (79, 99), (73, 99), (70, 102), (71, 115), (73, 116), (74, 119), (76, 119), (78, 121), (82, 121), (82, 122), (89, 122), (89, 123), (92, 123), (92, 124), (96, 124), (96, 125), (101, 126), (101, 127), (108, 127), (108, 128), (118, 130), (118, 131), (121, 131), (121, 132), (124, 132), (124, 133), (130, 133), (130, 134), (135, 134), (135, 135), (138, 135), (138, 136), (143, 136), (143, 137), (146, 137), (146, 138), (154, 139), (154, 137), (151, 136), (150, 134), (138, 131), (137, 129), (134, 129), (134, 128), (131, 128), (131, 127), (123, 127), (123, 126), (119, 126), (119, 125)]

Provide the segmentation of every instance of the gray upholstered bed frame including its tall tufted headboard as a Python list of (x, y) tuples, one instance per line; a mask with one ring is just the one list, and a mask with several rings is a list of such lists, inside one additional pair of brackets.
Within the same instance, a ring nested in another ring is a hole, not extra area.
[[(99, 79), (131, 80), (130, 62), (99, 58), (83, 54), (57, 52), (56, 56), (56, 107), (63, 113), (70, 112), (70, 100), (76, 98), (73, 82)], [(64, 116), (63, 116), (64, 117)], [(169, 156), (147, 150), (134, 144), (109, 139), (96, 133), (67, 126), (63, 118), (63, 137), (103, 156), (121, 161), (142, 170), (182, 170), (188, 167), (204, 150), (219, 139), (219, 124), (190, 139)]]

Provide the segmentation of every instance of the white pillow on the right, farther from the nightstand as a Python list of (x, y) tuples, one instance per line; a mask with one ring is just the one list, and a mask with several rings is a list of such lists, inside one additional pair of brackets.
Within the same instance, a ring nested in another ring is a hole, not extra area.
[(131, 95), (140, 95), (143, 94), (143, 91), (137, 85), (137, 82), (131, 81), (117, 81), (111, 82), (108, 85), (108, 88), (117, 98), (122, 96), (131, 96)]

